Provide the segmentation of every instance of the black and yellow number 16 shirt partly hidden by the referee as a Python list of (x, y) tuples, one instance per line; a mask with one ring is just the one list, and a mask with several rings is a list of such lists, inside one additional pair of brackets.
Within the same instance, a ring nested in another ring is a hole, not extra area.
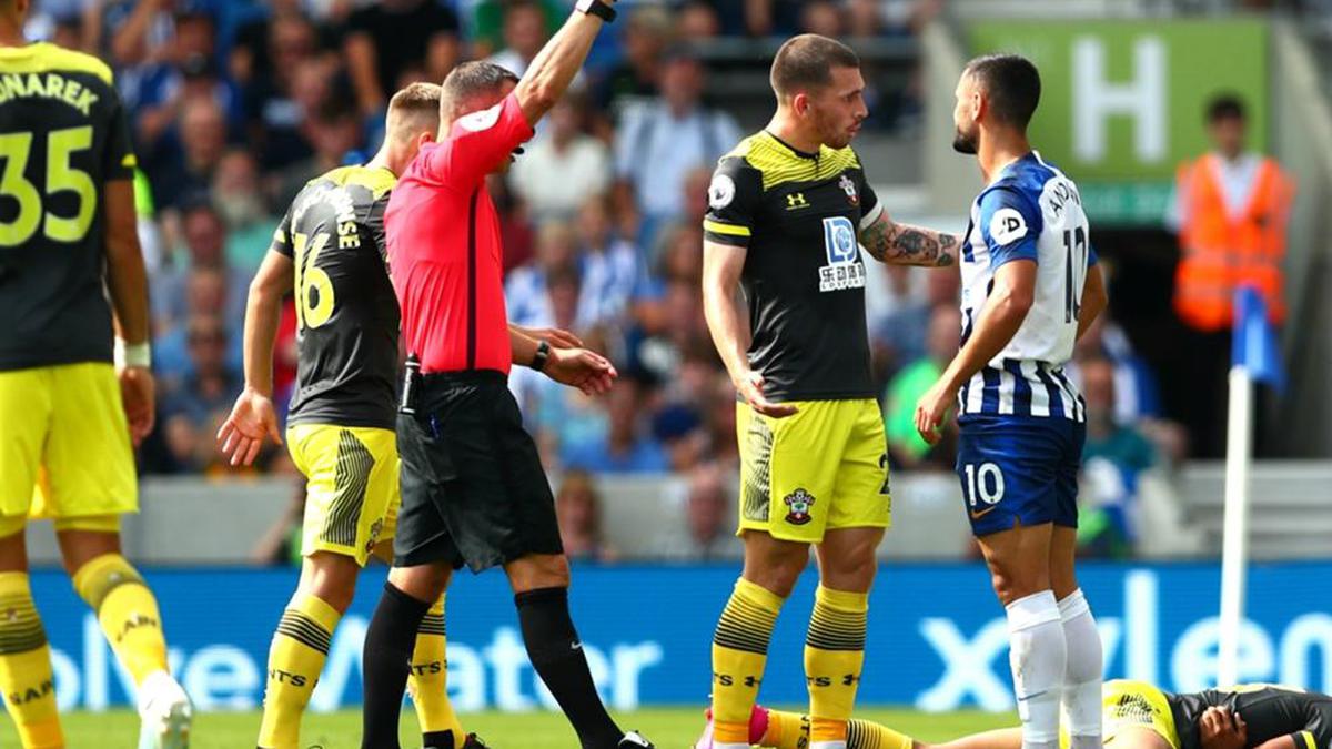
[(342, 167), (306, 183), (273, 236), (296, 269), (296, 390), (289, 424), (393, 429), (398, 300), (384, 255), (397, 177)]

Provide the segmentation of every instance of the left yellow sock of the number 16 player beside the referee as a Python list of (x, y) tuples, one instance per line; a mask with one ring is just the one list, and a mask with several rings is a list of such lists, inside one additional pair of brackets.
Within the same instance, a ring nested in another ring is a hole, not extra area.
[(296, 592), (277, 624), (268, 650), (268, 686), (258, 745), (265, 749), (296, 749), (301, 716), (324, 670), (333, 630), (342, 614), (322, 600)]

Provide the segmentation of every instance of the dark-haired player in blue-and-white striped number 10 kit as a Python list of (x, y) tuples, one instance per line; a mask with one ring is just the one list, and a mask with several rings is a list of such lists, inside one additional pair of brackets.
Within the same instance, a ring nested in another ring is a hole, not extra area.
[(1024, 746), (1100, 746), (1102, 644), (1074, 576), (1086, 405), (1064, 373), (1107, 299), (1078, 187), (1027, 143), (1040, 76), (1027, 60), (972, 60), (956, 140), (986, 188), (962, 245), (962, 351), (916, 405), (928, 441), (952, 404), (971, 529), (1008, 618)]

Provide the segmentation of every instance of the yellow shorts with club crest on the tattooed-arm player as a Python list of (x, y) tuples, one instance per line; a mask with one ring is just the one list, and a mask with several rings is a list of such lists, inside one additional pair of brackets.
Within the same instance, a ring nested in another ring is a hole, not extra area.
[(874, 400), (797, 401), (786, 418), (737, 404), (739, 532), (818, 544), (836, 528), (887, 528), (887, 440)]

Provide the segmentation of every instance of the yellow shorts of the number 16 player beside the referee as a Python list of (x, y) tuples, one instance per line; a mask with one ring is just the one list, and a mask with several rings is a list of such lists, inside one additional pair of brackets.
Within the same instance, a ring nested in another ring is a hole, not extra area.
[(286, 446), (305, 474), (301, 554), (333, 552), (365, 565), (398, 517), (398, 440), (392, 429), (297, 424)]

